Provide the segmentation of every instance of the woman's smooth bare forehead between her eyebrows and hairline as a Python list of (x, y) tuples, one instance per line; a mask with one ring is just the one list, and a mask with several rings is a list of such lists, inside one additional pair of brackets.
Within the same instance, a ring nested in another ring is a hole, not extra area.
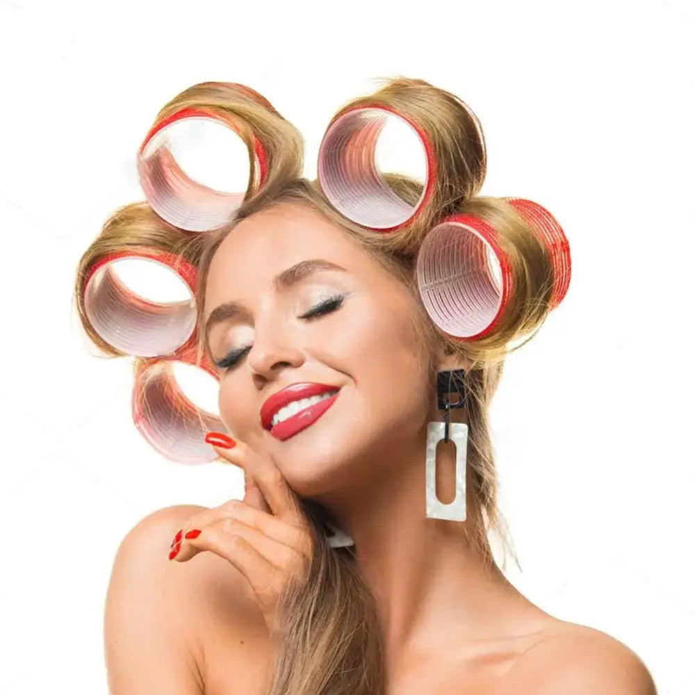
[(215, 251), (208, 270), (206, 310), (269, 287), (278, 272), (310, 258), (342, 265), (356, 275), (375, 272), (355, 240), (311, 208), (284, 203), (239, 222)]

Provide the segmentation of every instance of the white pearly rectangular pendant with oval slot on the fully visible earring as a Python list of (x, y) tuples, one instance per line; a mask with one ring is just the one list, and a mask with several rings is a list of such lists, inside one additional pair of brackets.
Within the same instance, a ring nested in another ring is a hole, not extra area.
[(456, 496), (448, 505), (436, 496), (436, 445), (444, 439), (447, 423), (427, 423), (427, 500), (426, 509), (429, 518), (466, 521), (466, 448), (468, 442), (468, 425), (465, 423), (448, 423), (449, 439), (456, 447)]

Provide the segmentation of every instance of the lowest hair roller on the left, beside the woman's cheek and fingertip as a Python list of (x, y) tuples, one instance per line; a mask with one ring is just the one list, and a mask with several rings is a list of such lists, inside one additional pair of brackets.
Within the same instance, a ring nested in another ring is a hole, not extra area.
[(197, 361), (191, 345), (172, 357), (136, 359), (134, 364), (133, 423), (144, 439), (170, 461), (204, 464), (218, 458), (204, 441), (207, 432), (227, 432), (219, 416), (196, 405), (181, 390), (174, 365), (183, 363), (218, 381), (206, 357)]

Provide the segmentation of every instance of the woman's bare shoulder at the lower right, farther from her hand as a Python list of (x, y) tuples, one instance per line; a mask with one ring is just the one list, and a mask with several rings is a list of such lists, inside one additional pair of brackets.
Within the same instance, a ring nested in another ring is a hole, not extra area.
[(500, 695), (657, 695), (641, 658), (619, 639), (560, 621), (510, 669)]

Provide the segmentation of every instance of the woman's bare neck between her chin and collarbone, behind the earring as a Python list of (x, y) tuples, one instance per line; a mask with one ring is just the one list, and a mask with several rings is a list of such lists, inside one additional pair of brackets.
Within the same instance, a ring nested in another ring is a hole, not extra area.
[[(416, 442), (391, 450), (386, 471), (319, 500), (355, 542), (363, 578), (377, 600), (386, 638), (387, 658), (406, 658), (412, 651), (437, 651), (511, 635), (528, 626), (539, 609), (502, 574), (489, 545), (473, 539), (480, 514), (473, 505), (470, 471), (466, 471), (466, 521), (425, 515), (426, 429)], [(409, 454), (408, 454), (409, 451)], [(436, 490), (443, 502), (454, 498), (455, 448), (439, 447)]]

